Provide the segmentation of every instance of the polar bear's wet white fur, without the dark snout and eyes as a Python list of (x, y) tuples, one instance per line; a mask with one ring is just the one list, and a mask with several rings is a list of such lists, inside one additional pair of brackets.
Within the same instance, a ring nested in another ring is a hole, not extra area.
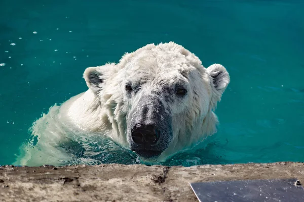
[[(103, 83), (90, 83), (89, 74), (93, 71), (100, 75)], [(212, 80), (215, 74), (218, 74), (216, 88)], [(179, 79), (185, 81), (189, 90), (183, 100), (170, 106), (173, 140), (158, 159), (164, 161), (216, 132), (218, 120), (213, 110), (230, 82), (222, 65), (204, 68), (198, 57), (174, 42), (147, 44), (125, 54), (118, 64), (87, 68), (84, 78), (89, 87), (86, 92), (71, 97), (61, 106), (51, 107), (48, 114), (34, 122), (31, 131), (39, 141), (35, 146), (24, 146), (15, 164), (60, 165), (62, 163), (58, 160), (71, 160), (70, 154), (55, 148), (69, 138), (79, 140), (108, 135), (128, 148), (127, 117), (136, 106), (136, 100), (126, 96), (126, 81), (132, 80), (147, 86), (145, 89), (157, 90), (162, 83), (173, 85)], [(194, 91), (198, 94), (196, 99)]]

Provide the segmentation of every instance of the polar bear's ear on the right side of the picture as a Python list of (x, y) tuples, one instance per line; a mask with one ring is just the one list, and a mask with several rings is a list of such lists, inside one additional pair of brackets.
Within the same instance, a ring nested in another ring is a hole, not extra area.
[(213, 108), (215, 108), (216, 103), (220, 101), (222, 93), (230, 83), (230, 76), (227, 70), (220, 64), (209, 66), (207, 68), (207, 73), (211, 77), (210, 84), (214, 91), (211, 102), (213, 104)]

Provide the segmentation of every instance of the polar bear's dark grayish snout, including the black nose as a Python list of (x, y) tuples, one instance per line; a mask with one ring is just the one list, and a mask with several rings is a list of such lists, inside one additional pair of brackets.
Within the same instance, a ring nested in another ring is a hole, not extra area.
[(172, 116), (165, 109), (162, 97), (147, 92), (137, 94), (127, 118), (127, 138), (130, 149), (144, 159), (157, 158), (172, 140)]

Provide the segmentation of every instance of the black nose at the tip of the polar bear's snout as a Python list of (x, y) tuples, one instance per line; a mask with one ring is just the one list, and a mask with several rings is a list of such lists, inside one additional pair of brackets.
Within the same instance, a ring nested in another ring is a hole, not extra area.
[(132, 140), (136, 144), (156, 144), (160, 137), (160, 132), (153, 125), (137, 124), (131, 134)]

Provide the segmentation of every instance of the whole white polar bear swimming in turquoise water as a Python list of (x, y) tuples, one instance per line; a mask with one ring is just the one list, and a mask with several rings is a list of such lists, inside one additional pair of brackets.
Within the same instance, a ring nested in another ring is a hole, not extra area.
[(73, 158), (60, 144), (104, 135), (145, 161), (165, 161), (216, 132), (213, 111), (230, 83), (222, 65), (204, 68), (174, 42), (147, 44), (83, 77), (89, 89), (34, 122), (35, 143), (16, 164), (58, 165)]

